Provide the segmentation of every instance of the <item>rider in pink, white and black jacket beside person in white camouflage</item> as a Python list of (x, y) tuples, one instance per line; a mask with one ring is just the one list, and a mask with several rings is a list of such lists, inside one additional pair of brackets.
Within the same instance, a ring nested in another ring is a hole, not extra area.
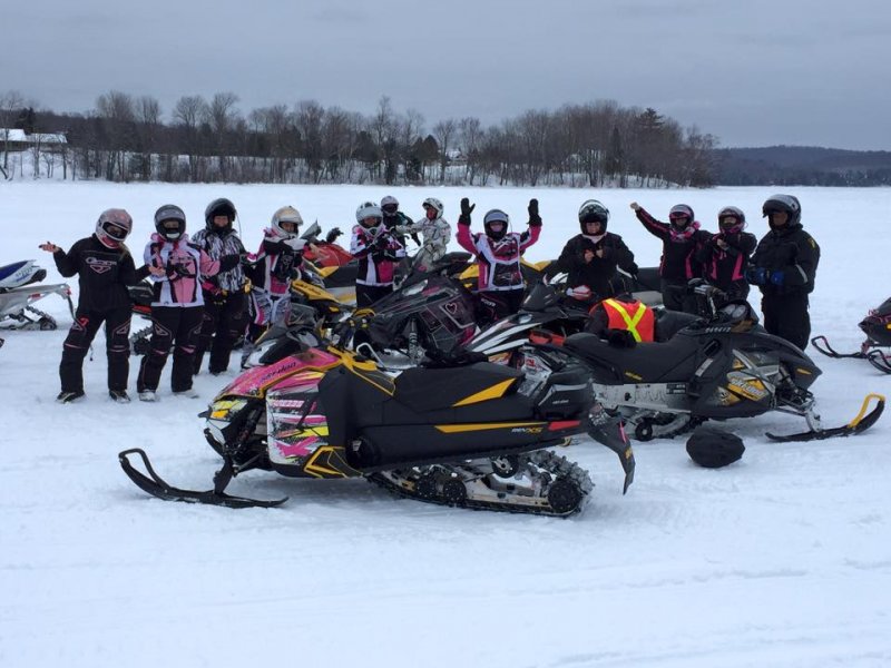
[(405, 257), (405, 248), (395, 233), (383, 225), (381, 207), (364, 202), (355, 210), (350, 253), (359, 261), (355, 277), (355, 305), (370, 307), (393, 292), (395, 267)]

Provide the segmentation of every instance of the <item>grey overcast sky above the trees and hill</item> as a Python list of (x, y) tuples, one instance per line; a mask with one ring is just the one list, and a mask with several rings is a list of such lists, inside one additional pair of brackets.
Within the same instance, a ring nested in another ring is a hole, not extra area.
[(429, 129), (615, 100), (722, 146), (891, 149), (889, 0), (10, 0), (0, 24), (0, 94), (57, 111), (388, 95)]

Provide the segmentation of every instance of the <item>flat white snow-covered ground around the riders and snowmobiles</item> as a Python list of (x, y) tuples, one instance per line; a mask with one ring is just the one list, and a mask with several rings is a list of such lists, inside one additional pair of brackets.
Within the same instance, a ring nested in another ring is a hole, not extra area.
[[(733, 204), (761, 236), (772, 194), (0, 184), (0, 264), (38, 257), (59, 279), (37, 245), (69, 247), (112, 206), (134, 215), (138, 250), (157, 206), (182, 205), (196, 230), (204, 206), (227, 196), (254, 248), (278, 206), (346, 232), (360, 202), (391, 191), (412, 216), (440, 197), (452, 223), (461, 196), (478, 213), (499, 206), (522, 222), (535, 195), (545, 234), (531, 259), (556, 255), (577, 230), (579, 204), (598, 197), (642, 265), (657, 262), (659, 246), (634, 219), (633, 199), (657, 215), (686, 202), (711, 229)], [(859, 320), (889, 296), (891, 189), (792, 191), (823, 249), (814, 332), (854, 347)], [(0, 666), (891, 665), (891, 418), (856, 439), (810, 444), (766, 441), (765, 431), (804, 426), (787, 415), (732, 424), (746, 453), (717, 471), (695, 466), (683, 440), (639, 444), (624, 498), (615, 455), (582, 443), (566, 454), (597, 488), (570, 520), (261, 472), (233, 490), (287, 494), (285, 507), (164, 503), (125, 478), (117, 452), (144, 448), (163, 475), (206, 488), (216, 458), (196, 413), (223, 381), (198, 376), (200, 400), (164, 392), (157, 404), (114, 404), (100, 335), (86, 400), (57, 405), (70, 316), (58, 297), (40, 306), (61, 328), (2, 333), (0, 350)], [(816, 361), (826, 424), (848, 421), (864, 393), (891, 390), (891, 376), (865, 362)]]

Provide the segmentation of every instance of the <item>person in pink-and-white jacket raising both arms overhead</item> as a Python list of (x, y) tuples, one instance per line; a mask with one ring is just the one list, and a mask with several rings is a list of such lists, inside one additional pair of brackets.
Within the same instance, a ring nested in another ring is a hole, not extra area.
[(541, 216), (538, 213), (538, 199), (530, 199), (527, 209), (529, 229), (526, 232), (508, 232), (508, 215), (501, 209), (491, 209), (482, 219), (483, 234), (471, 234), (470, 214), (476, 206), (467, 197), (461, 199), (458, 243), (477, 257), (478, 324), (484, 327), (519, 311), (526, 288), (520, 258), (538, 240)]

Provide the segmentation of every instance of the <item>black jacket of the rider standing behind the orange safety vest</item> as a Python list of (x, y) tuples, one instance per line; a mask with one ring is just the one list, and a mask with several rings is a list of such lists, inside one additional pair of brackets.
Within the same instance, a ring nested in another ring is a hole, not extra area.
[[(585, 261), (586, 250), (595, 253), (590, 262)], [(597, 250), (603, 250), (604, 256), (598, 257)], [(590, 236), (577, 234), (566, 243), (560, 257), (547, 268), (546, 275), (554, 276), (559, 272), (566, 272), (568, 287), (587, 285), (594, 293), (591, 301), (598, 302), (615, 296), (613, 279), (617, 266), (629, 274), (637, 273), (634, 253), (628, 249), (619, 235), (608, 232), (595, 242)]]

